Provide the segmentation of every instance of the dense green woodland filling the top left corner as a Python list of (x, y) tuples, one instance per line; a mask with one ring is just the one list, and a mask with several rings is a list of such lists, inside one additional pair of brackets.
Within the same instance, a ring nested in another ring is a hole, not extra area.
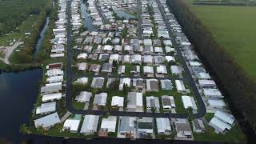
[(0, 36), (15, 30), (30, 14), (40, 14), (48, 0), (0, 0)]

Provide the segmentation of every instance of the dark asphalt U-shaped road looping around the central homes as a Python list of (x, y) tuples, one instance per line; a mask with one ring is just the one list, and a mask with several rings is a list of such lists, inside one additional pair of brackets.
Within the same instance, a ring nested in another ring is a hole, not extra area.
[[(178, 52), (178, 58), (182, 60), (182, 65), (185, 68), (186, 71), (186, 80), (190, 83), (190, 86), (192, 86), (192, 89), (194, 91), (194, 94), (196, 95), (196, 99), (198, 101), (198, 113), (194, 114), (195, 118), (202, 118), (206, 114), (206, 106), (204, 105), (204, 102), (202, 101), (201, 95), (198, 92), (198, 89), (194, 83), (194, 80), (190, 74), (190, 70), (186, 66), (186, 62), (184, 58), (182, 57), (182, 53), (178, 48), (177, 42), (174, 40), (174, 35), (172, 35), (170, 31), (170, 26), (167, 23), (165, 13), (162, 10), (162, 6), (160, 6), (159, 1), (158, 6), (161, 10), (162, 17), (164, 18), (166, 22), (166, 26), (169, 29), (170, 36), (172, 38), (172, 42), (174, 44), (175, 49)], [(96, 114), (96, 115), (104, 115), (107, 112), (110, 113), (110, 115), (115, 116), (137, 116), (137, 117), (163, 117), (163, 118), (187, 118), (188, 114), (160, 114), (160, 113), (144, 113), (144, 112), (127, 112), (127, 111), (106, 111), (106, 110), (77, 110), (74, 109), (72, 106), (72, 97), (71, 97), (71, 83), (72, 83), (72, 67), (71, 67), (71, 60), (72, 60), (72, 52), (71, 52), (71, 25), (70, 25), (70, 1), (67, 1), (67, 62), (66, 62), (66, 109), (70, 111), (73, 114)]]

